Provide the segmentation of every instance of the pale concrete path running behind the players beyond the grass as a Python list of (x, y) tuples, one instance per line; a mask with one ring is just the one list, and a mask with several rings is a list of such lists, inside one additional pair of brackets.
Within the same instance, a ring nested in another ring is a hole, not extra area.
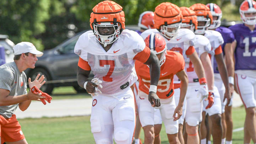
[[(233, 96), (233, 107), (242, 105), (238, 94)], [(92, 98), (53, 100), (43, 105), (40, 101), (32, 101), (26, 111), (19, 108), (15, 111), (16, 117), (21, 118), (41, 118), (41, 117), (66, 117), (66, 116), (88, 116), (91, 114)]]

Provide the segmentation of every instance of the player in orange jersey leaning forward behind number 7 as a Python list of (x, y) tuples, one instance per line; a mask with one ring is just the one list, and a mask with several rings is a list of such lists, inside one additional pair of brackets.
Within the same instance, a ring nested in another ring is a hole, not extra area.
[[(165, 124), (167, 137), (170, 144), (179, 143), (178, 119), (182, 115), (183, 101), (187, 91), (188, 78), (184, 70), (185, 62), (180, 53), (167, 50), (165, 39), (158, 33), (149, 34), (144, 40), (152, 52), (154, 52), (160, 62), (160, 80), (158, 82), (158, 90), (156, 94), (160, 98), (161, 106), (158, 107), (159, 112), (154, 112), (154, 107), (151, 107), (148, 102), (148, 90), (150, 85), (149, 67), (139, 61), (135, 62), (135, 70), (140, 77), (139, 92), (138, 92), (138, 110), (140, 123), (142, 124), (145, 144), (154, 143), (154, 124)], [(174, 75), (181, 80), (181, 93), (178, 105), (176, 107), (174, 100)], [(177, 113), (177, 116), (175, 116)], [(159, 134), (160, 132), (158, 132)], [(156, 143), (156, 142), (155, 142)], [(160, 139), (158, 140), (160, 144)]]

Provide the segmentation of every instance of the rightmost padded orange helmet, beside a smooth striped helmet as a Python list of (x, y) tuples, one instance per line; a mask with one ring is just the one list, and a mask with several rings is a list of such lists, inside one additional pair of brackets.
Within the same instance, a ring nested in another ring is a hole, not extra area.
[(196, 12), (197, 21), (204, 22), (204, 26), (197, 26), (196, 34), (204, 34), (208, 27), (213, 23), (212, 13), (210, 8), (204, 4), (193, 4), (190, 9)]

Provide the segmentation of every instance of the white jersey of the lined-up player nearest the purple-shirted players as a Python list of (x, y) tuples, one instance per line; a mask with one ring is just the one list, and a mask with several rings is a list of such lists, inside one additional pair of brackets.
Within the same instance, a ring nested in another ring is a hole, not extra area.
[(214, 62), (214, 55), (215, 55), (215, 50), (219, 47), (222, 46), (222, 44), (224, 43), (223, 37), (222, 35), (217, 32), (217, 31), (213, 31), (213, 30), (207, 30), (205, 31), (204, 34), (205, 37), (207, 37), (210, 41), (210, 44), (212, 46), (210, 52), (208, 52), (211, 56), (211, 62), (212, 62), (212, 66), (213, 66), (213, 62)]

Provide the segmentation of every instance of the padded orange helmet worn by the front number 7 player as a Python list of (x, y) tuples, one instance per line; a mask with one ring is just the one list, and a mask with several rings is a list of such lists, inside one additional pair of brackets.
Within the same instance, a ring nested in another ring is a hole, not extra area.
[[(104, 47), (116, 41), (125, 28), (122, 9), (122, 6), (111, 0), (102, 1), (92, 9), (90, 26), (96, 38), (100, 43), (104, 44)], [(103, 36), (98, 32), (98, 27), (113, 27), (114, 33)]]

